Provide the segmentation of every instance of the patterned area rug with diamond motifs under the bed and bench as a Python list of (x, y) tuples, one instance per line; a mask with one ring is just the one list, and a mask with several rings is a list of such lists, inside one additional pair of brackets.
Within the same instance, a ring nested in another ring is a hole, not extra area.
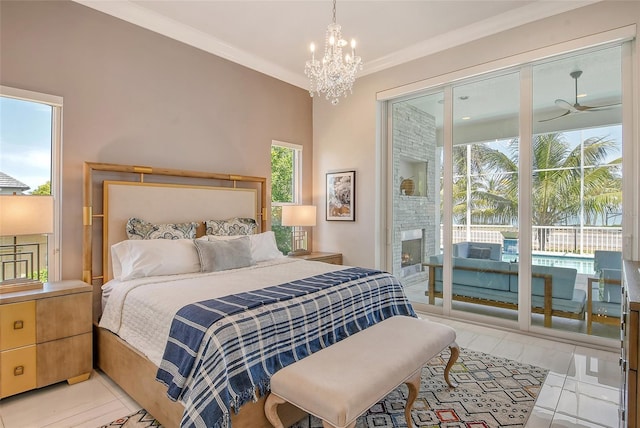
[[(420, 394), (411, 412), (420, 428), (517, 428), (524, 427), (531, 414), (547, 370), (505, 358), (461, 349), (451, 378), (451, 389), (443, 372), (448, 349), (422, 370)], [(404, 405), (407, 387), (402, 385), (358, 418), (356, 428), (406, 428)], [(157, 427), (144, 410), (104, 427)], [(293, 428), (322, 428), (314, 417)]]

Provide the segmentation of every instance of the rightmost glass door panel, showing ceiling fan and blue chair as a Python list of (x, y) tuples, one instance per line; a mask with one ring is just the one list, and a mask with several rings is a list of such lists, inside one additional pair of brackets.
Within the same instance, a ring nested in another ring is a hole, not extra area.
[(619, 336), (621, 72), (619, 46), (533, 67), (534, 325)]

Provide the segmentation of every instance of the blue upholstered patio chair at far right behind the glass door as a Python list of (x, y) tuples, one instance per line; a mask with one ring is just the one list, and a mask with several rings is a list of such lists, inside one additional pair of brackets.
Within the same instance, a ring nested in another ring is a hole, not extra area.
[(587, 281), (587, 334), (591, 334), (592, 322), (620, 324), (622, 302), (622, 253), (595, 251), (593, 260), (597, 276)]

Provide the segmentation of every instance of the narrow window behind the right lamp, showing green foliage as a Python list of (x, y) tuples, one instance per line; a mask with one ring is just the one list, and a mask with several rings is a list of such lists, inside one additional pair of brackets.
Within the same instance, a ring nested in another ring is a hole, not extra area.
[(271, 230), (278, 249), (291, 251), (291, 227), (282, 226), (282, 206), (300, 203), (302, 146), (273, 141), (271, 144)]

